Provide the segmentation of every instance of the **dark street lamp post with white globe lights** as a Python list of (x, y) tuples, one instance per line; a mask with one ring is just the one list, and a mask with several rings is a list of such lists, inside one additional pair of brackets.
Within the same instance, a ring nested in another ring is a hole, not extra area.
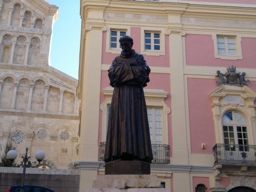
[[(11, 164), (13, 164), (13, 162), (14, 162), (15, 158), (17, 158), (17, 156), (18, 156), (18, 154), (17, 154), (17, 151), (15, 151), (15, 150), (10, 150), (7, 153), (7, 158), (9, 159)], [(35, 157), (38, 161), (38, 164), (36, 166), (31, 166), (31, 167), (37, 167), (41, 163), (41, 161), (45, 157), (44, 151), (38, 150), (35, 154)], [(30, 158), (30, 157), (28, 157), (28, 148), (26, 148), (25, 157), (22, 156), (21, 158), (23, 158), (23, 161), (20, 164), (20, 165), (23, 165), (23, 174), (22, 174), (22, 179), (21, 179), (20, 192), (23, 192), (25, 175), (26, 175), (26, 165), (27, 165), (28, 159)]]

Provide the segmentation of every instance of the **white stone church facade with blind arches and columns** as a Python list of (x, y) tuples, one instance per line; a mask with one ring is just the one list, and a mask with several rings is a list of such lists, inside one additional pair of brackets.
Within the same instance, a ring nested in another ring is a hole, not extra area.
[(44, 150), (46, 168), (77, 160), (77, 79), (50, 66), (58, 7), (44, 0), (0, 0), (0, 146), (12, 139), (18, 163)]

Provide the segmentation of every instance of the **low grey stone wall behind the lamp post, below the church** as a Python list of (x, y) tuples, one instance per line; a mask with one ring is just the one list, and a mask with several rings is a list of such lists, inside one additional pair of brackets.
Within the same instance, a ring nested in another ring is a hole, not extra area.
[[(23, 168), (0, 167), (0, 192), (20, 185)], [(43, 186), (55, 192), (78, 192), (80, 175), (78, 170), (27, 168), (25, 185)]]

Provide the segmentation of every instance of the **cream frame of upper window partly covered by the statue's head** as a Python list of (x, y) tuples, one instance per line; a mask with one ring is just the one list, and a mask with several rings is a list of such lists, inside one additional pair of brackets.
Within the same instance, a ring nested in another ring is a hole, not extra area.
[[(121, 54), (121, 48), (111, 48), (110, 47), (110, 38), (111, 38), (111, 31), (125, 31), (126, 35), (131, 36), (131, 27), (126, 26), (111, 26), (107, 27), (107, 37), (106, 37), (106, 52), (113, 53), (113, 54)], [(119, 39), (117, 39), (118, 41)], [(118, 42), (119, 43), (119, 42)]]

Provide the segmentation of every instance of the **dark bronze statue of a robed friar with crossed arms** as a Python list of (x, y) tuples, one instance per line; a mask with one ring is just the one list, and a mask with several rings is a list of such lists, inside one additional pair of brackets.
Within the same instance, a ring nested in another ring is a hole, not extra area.
[(149, 82), (150, 68), (143, 55), (133, 49), (133, 39), (119, 39), (121, 55), (108, 70), (114, 87), (111, 100), (104, 161), (143, 161), (153, 159), (147, 107), (143, 87)]

